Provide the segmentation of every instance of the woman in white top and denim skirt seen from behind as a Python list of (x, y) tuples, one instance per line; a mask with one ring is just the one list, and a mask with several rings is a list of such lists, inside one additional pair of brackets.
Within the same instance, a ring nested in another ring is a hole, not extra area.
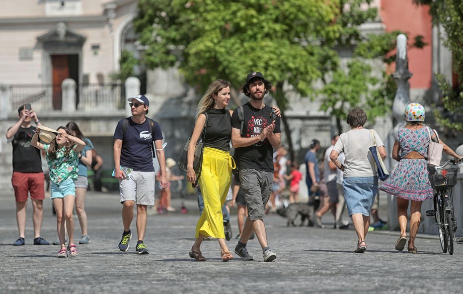
[[(370, 226), (370, 210), (378, 192), (378, 177), (373, 157), (369, 148), (374, 145), (369, 129), (364, 129), (367, 114), (362, 109), (352, 109), (347, 115), (351, 130), (342, 133), (334, 145), (329, 158), (338, 169), (343, 171), (342, 187), (349, 216), (352, 217), (355, 231), (359, 238), (355, 253), (367, 250), (365, 236)], [(386, 150), (380, 136), (373, 130), (380, 156), (386, 158)], [(338, 160), (339, 153), (344, 152), (344, 164)]]

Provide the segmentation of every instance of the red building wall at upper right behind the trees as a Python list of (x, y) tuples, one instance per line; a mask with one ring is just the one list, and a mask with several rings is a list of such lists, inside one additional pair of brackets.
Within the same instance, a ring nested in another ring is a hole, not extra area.
[[(409, 49), (408, 70), (413, 74), (410, 88), (431, 88), (432, 80), (432, 17), (428, 6), (417, 6), (412, 0), (382, 0), (380, 16), (386, 31), (401, 30), (408, 34), (408, 45), (417, 35), (428, 45), (423, 49)], [(390, 71), (395, 70), (392, 64)]]

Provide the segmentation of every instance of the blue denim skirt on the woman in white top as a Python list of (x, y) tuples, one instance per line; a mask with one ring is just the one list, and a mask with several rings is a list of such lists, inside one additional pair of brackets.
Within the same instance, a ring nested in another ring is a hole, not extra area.
[(370, 215), (378, 193), (378, 177), (344, 177), (342, 188), (349, 216), (354, 213)]

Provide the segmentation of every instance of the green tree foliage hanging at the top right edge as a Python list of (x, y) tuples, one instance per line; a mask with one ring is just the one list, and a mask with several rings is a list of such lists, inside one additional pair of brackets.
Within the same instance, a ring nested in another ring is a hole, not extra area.
[[(429, 13), (435, 25), (441, 24), (447, 34), (444, 46), (452, 51), (454, 71), (463, 84), (463, 1), (462, 0), (413, 0), (418, 5), (428, 5)], [(463, 113), (462, 88), (451, 87), (443, 75), (437, 75), (437, 82), (443, 94), (443, 105), (453, 113)], [(463, 132), (462, 122), (453, 122), (445, 118), (437, 110), (434, 111), (436, 121), (443, 126)]]

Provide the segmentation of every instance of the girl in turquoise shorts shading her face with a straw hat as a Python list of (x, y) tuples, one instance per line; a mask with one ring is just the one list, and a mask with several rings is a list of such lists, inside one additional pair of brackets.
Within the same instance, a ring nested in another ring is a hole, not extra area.
[[(35, 148), (45, 150), (48, 167), (50, 169), (51, 199), (56, 211), (57, 231), (61, 249), (58, 257), (77, 256), (79, 254), (74, 244), (74, 201), (76, 198), (78, 155), (85, 147), (85, 142), (72, 135), (71, 131), (60, 126), (55, 140), (50, 144), (37, 141), (39, 128), (36, 128), (31, 144)], [(71, 197), (72, 196), (72, 197)], [(64, 216), (64, 219), (63, 219)], [(66, 247), (66, 228), (68, 229), (69, 245)]]

